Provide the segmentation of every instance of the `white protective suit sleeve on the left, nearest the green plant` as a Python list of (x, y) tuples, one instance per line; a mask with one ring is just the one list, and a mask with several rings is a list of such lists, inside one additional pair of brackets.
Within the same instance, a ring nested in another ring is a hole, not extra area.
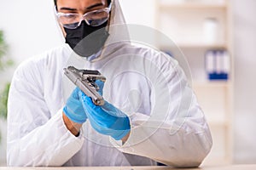
[(42, 69), (29, 61), (15, 71), (8, 102), (8, 166), (61, 166), (84, 142), (67, 130), (62, 110), (49, 113)]

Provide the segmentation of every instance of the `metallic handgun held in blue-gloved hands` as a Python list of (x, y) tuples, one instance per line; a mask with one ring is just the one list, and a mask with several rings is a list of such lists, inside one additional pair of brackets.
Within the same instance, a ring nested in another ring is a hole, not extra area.
[(106, 77), (103, 77), (99, 71), (79, 70), (73, 66), (64, 68), (64, 71), (69, 80), (90, 97), (95, 105), (104, 105), (103, 97), (98, 94), (100, 88), (96, 85), (96, 80), (105, 82)]

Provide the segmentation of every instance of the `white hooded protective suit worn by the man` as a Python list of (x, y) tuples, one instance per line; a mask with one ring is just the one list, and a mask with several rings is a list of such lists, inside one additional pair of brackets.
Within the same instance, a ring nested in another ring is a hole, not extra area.
[[(125, 23), (117, 0), (110, 21)], [(9, 166), (201, 164), (212, 147), (211, 133), (177, 61), (129, 41), (115, 42), (119, 39), (113, 40), (115, 31), (109, 30), (106, 44), (110, 45), (92, 61), (74, 56), (64, 44), (18, 67), (9, 91)], [(124, 31), (119, 32), (126, 39)], [(89, 121), (79, 137), (67, 130), (62, 120), (70, 94), (70, 89), (65, 90), (68, 80), (63, 80), (67, 65), (98, 70), (107, 78), (104, 99), (131, 120), (125, 144), (96, 133)]]

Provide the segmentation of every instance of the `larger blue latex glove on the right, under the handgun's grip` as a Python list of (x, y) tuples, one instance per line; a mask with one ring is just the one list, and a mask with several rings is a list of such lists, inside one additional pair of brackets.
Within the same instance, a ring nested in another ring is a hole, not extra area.
[[(99, 94), (102, 95), (104, 82), (96, 81), (99, 86)], [(104, 105), (94, 105), (90, 97), (79, 92), (84, 111), (88, 116), (90, 125), (98, 132), (111, 136), (113, 139), (123, 139), (130, 132), (130, 120), (128, 116), (105, 100)]]

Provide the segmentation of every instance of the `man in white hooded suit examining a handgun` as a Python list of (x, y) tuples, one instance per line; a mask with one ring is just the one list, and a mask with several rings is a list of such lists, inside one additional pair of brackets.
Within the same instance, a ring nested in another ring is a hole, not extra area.
[[(15, 71), (8, 165), (199, 166), (212, 138), (177, 61), (127, 41), (117, 0), (57, 0), (55, 6), (67, 45)], [(79, 88), (67, 92), (67, 65), (107, 78), (96, 82), (104, 105)]]

